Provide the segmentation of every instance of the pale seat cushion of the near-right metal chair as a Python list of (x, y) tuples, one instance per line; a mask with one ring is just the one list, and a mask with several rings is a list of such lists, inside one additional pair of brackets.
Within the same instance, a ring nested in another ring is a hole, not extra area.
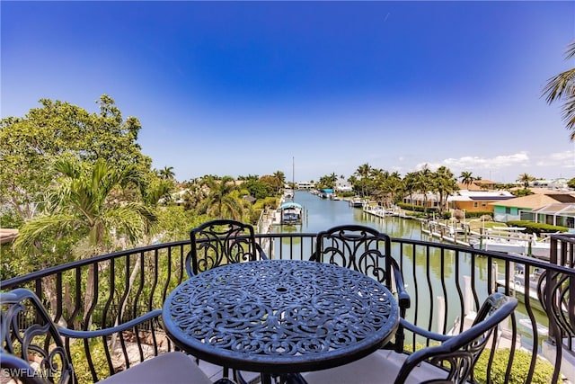
[[(349, 364), (330, 370), (306, 372), (302, 376), (308, 384), (387, 384), (393, 383), (408, 355), (391, 351), (376, 351)], [(444, 380), (447, 371), (422, 363), (411, 371), (406, 384), (426, 380)]]

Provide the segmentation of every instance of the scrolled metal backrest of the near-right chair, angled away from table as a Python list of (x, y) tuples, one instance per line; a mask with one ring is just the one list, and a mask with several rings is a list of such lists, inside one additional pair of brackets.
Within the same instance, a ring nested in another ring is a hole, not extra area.
[[(447, 369), (447, 381), (464, 383), (472, 373), (475, 362), (494, 336), (497, 326), (517, 308), (517, 299), (502, 293), (492, 293), (480, 308), (473, 326), (443, 344), (420, 349), (403, 362), (395, 383), (403, 383), (421, 362), (431, 362)], [(495, 338), (492, 339), (495, 342)], [(444, 364), (447, 362), (447, 364)], [(446, 378), (429, 382), (443, 382)]]

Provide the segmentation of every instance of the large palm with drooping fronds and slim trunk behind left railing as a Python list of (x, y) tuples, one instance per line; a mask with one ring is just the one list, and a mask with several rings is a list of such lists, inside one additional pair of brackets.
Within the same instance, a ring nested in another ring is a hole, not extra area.
[[(61, 180), (49, 193), (46, 214), (25, 223), (14, 247), (30, 250), (42, 234), (50, 230), (80, 234), (85, 246), (78, 249), (84, 257), (92, 257), (109, 251), (112, 230), (125, 235), (133, 244), (144, 235), (146, 228), (156, 221), (153, 210), (136, 201), (121, 201), (119, 188), (141, 179), (134, 165), (114, 168), (103, 159), (93, 165), (85, 165), (71, 159), (61, 159), (55, 164)], [(93, 264), (88, 269), (84, 314), (92, 305), (94, 296)], [(84, 318), (84, 326), (91, 319)]]

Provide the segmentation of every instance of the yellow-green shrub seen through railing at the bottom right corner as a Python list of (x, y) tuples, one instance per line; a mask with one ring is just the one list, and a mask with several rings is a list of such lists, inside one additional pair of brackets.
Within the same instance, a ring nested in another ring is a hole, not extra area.
[[(491, 351), (486, 349), (483, 351), (479, 360), (475, 364), (473, 371), (473, 379), (478, 383), (487, 383), (487, 363)], [(493, 384), (515, 384), (526, 382), (529, 366), (531, 365), (531, 353), (517, 350), (513, 356), (511, 363), (511, 373), (509, 374), (509, 381), (505, 380), (505, 372), (509, 362), (509, 349), (498, 349), (493, 356), (493, 363), (491, 364), (491, 383)], [(544, 384), (551, 382), (553, 377), (553, 364), (546, 362), (537, 357), (535, 362), (535, 371), (533, 373), (532, 384)]]

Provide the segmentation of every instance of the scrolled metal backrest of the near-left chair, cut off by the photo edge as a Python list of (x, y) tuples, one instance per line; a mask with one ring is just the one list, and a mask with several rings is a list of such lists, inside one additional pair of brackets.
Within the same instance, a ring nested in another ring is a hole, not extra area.
[(0, 293), (0, 365), (23, 383), (74, 381), (57, 326), (31, 290)]

